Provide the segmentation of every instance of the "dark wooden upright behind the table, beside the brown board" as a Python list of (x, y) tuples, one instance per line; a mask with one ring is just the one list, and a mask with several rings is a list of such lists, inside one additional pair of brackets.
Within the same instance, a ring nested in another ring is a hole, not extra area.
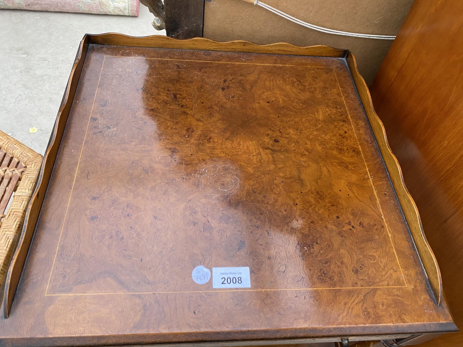
[(164, 15), (167, 36), (202, 37), (204, 0), (165, 0)]

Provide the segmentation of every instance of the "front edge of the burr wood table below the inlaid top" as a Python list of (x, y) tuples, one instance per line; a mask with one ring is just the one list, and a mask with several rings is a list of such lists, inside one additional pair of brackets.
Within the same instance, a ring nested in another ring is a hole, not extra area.
[[(307, 335), (306, 329), (296, 328), (282, 329), (275, 332), (275, 330), (258, 329), (258, 330), (227, 330), (211, 335), (209, 331), (191, 333), (169, 333), (164, 334), (162, 340), (154, 336), (152, 333), (137, 334), (135, 339), (133, 335), (105, 335), (105, 339), (99, 339), (98, 335), (86, 336), (52, 336), (52, 337), (25, 337), (13, 339), (0, 339), (0, 344), (4, 343), (8, 346), (75, 346), (77, 342), (81, 345), (90, 346), (95, 343), (98, 345), (111, 345), (114, 346), (117, 342), (118, 346), (156, 346), (156, 347), (242, 347), (242, 346), (269, 346), (273, 345), (290, 345), (306, 344), (306, 343), (320, 343), (320, 342), (337, 342), (341, 338), (348, 336), (353, 341), (378, 341), (378, 340), (395, 340), (403, 338), (411, 338), (415, 335), (430, 334), (428, 326), (431, 324), (433, 328), (432, 334), (443, 334), (449, 332), (456, 332), (458, 329), (453, 322), (429, 322), (429, 323), (413, 323), (412, 326), (407, 323), (388, 324), (387, 326), (357, 326), (357, 329), (346, 331), (343, 326), (330, 327), (326, 329), (323, 327), (314, 328), (315, 333)], [(365, 328), (371, 328), (371, 332), (365, 331)], [(274, 334), (273, 336), (270, 334)], [(182, 336), (179, 336), (182, 335)], [(237, 335), (239, 335), (237, 337)], [(291, 336), (288, 336), (291, 335)], [(273, 339), (272, 339), (273, 337)], [(76, 342), (76, 339), (79, 341)], [(228, 342), (220, 342), (228, 340)], [(153, 345), (153, 343), (155, 343)]]

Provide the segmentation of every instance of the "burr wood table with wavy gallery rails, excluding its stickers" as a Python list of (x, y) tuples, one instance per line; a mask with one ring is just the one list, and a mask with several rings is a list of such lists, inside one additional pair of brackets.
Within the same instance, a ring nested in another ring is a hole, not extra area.
[[(455, 330), (345, 50), (86, 36), (26, 223), (6, 279), (4, 344)], [(198, 285), (199, 265), (249, 266), (251, 286)]]

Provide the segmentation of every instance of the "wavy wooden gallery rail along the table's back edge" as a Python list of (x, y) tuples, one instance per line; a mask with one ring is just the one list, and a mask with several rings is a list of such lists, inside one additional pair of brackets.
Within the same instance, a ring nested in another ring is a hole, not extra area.
[(161, 35), (134, 37), (114, 32), (106, 34), (88, 34), (88, 37), (90, 39), (90, 43), (113, 46), (267, 53), (294, 56), (323, 56), (332, 58), (344, 58), (347, 54), (347, 50), (338, 50), (336, 48), (323, 45), (300, 47), (294, 46), (290, 43), (257, 44), (240, 40), (217, 42), (203, 37), (178, 40)]

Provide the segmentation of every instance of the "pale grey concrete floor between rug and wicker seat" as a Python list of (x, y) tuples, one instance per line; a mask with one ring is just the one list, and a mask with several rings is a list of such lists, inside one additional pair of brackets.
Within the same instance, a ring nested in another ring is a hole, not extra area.
[(152, 20), (143, 5), (139, 17), (0, 10), (0, 130), (43, 155), (83, 35), (165, 35)]

